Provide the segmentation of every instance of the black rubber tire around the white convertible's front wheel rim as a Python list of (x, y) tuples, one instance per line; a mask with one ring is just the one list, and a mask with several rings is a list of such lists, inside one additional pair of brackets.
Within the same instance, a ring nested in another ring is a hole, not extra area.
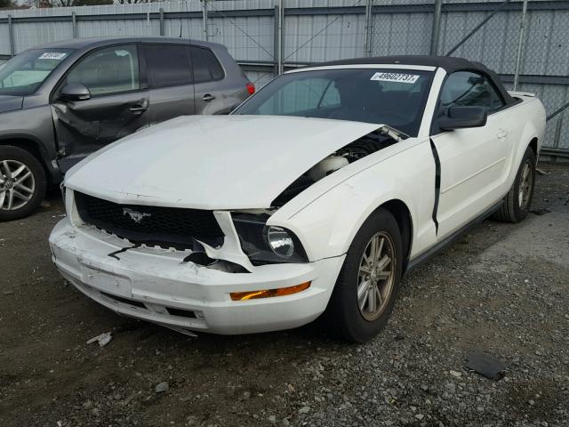
[[(384, 232), (392, 239), (395, 249), (396, 277), (389, 302), (379, 318), (366, 320), (357, 306), (357, 273), (359, 262), (370, 239), (378, 232)], [(378, 334), (387, 324), (397, 299), (402, 272), (401, 232), (392, 214), (387, 210), (375, 211), (358, 230), (349, 246), (341, 273), (333, 291), (332, 313), (334, 324), (344, 338), (352, 342), (366, 342)]]

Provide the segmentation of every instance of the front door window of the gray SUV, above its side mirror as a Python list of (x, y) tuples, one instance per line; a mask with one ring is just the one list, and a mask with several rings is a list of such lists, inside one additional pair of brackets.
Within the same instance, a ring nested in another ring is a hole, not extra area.
[(136, 45), (107, 47), (89, 53), (71, 69), (66, 83), (80, 83), (92, 96), (140, 89)]

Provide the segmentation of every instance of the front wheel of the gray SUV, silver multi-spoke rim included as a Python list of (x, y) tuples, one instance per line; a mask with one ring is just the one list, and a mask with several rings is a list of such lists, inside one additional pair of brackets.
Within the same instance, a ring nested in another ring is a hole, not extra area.
[(25, 149), (0, 146), (0, 222), (33, 213), (45, 197), (45, 171)]

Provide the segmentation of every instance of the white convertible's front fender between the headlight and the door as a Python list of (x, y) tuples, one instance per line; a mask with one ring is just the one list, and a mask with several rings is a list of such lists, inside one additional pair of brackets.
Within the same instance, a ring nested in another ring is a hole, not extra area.
[[(399, 144), (405, 144), (405, 141)], [(411, 215), (413, 256), (432, 244), (435, 238), (432, 221), (435, 162), (428, 140), (415, 142), (366, 167), (288, 217), (286, 213), (290, 209), (284, 209), (282, 213), (277, 211), (268, 224), (292, 230), (301, 239), (309, 260), (317, 261), (348, 252), (357, 231), (370, 214), (393, 199), (402, 201)]]

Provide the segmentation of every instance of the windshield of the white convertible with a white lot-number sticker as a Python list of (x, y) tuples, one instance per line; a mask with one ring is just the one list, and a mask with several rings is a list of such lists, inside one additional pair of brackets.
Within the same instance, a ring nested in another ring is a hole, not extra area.
[(233, 114), (333, 118), (419, 133), (432, 72), (404, 68), (324, 69), (284, 74)]

